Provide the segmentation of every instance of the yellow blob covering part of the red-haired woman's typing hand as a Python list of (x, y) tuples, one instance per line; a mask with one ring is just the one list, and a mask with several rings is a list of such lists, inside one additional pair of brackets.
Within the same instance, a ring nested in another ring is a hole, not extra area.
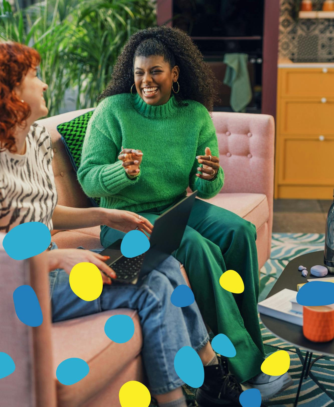
[(92, 263), (78, 263), (70, 272), (70, 287), (81, 300), (96, 300), (102, 293), (100, 270)]

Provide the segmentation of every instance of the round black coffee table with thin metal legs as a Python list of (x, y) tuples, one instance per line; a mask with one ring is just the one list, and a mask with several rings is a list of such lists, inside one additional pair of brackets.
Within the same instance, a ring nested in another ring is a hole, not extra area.
[[(291, 260), (282, 271), (282, 274), (279, 276), (277, 281), (275, 282), (273, 288), (271, 289), (270, 293), (267, 295), (271, 297), (271, 295), (276, 294), (278, 291), (283, 290), (284, 288), (288, 288), (290, 290), (297, 291), (297, 284), (307, 282), (308, 278), (315, 278), (317, 280), (321, 280), (321, 278), (314, 277), (310, 274), (310, 269), (314, 265), (323, 265), (323, 250), (320, 252), (312, 252), (307, 254), (302, 254)], [(301, 271), (298, 271), (298, 266), (305, 266), (308, 270), (308, 276), (303, 277), (301, 275)], [(325, 278), (334, 277), (334, 274), (327, 274)], [(334, 300), (333, 300), (334, 302)], [(295, 345), (297, 348), (303, 348), (306, 350), (306, 357), (303, 364), (303, 370), (301, 372), (301, 378), (299, 381), (299, 386), (297, 390), (297, 396), (295, 400), (295, 406), (298, 403), (299, 392), (301, 389), (301, 384), (304, 378), (307, 378), (310, 368), (312, 367), (313, 363), (320, 359), (318, 357), (312, 360), (312, 352), (320, 352), (323, 355), (334, 355), (334, 341), (330, 342), (311, 342), (303, 335), (303, 327), (299, 325), (292, 324), (290, 322), (283, 321), (282, 319), (277, 319), (273, 317), (269, 317), (268, 315), (264, 315), (260, 313), (260, 318), (266, 326), (274, 335), (281, 338), (282, 340), (289, 342), (290, 344)]]

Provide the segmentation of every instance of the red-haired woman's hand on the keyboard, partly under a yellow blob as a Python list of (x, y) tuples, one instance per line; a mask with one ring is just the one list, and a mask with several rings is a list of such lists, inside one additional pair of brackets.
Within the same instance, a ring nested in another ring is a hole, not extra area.
[[(49, 271), (64, 269), (67, 274), (70, 274), (76, 264), (85, 262), (93, 263), (100, 269), (103, 284), (110, 285), (111, 278), (116, 278), (115, 271), (105, 264), (105, 260), (107, 260), (109, 256), (101, 256), (98, 253), (83, 249), (55, 249), (46, 253), (48, 254)], [(106, 274), (110, 278), (108, 278)]]

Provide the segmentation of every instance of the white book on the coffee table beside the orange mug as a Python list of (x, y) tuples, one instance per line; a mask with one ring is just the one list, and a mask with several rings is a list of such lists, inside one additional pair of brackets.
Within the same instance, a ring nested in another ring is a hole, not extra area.
[(293, 311), (291, 301), (296, 302), (297, 291), (285, 288), (258, 303), (258, 311), (270, 317), (303, 326), (303, 314)]

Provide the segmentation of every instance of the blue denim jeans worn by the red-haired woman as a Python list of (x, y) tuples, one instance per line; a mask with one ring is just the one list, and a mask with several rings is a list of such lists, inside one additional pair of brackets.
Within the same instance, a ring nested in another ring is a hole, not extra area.
[[(53, 243), (52, 249), (57, 246)], [(196, 302), (179, 308), (170, 295), (185, 280), (172, 256), (137, 285), (104, 285), (99, 298), (81, 300), (73, 293), (64, 270), (50, 272), (53, 322), (117, 308), (138, 311), (142, 327), (142, 358), (152, 394), (170, 392), (183, 385), (174, 369), (174, 357), (183, 346), (198, 352), (209, 340)], [(101, 335), (105, 335), (101, 332)]]

